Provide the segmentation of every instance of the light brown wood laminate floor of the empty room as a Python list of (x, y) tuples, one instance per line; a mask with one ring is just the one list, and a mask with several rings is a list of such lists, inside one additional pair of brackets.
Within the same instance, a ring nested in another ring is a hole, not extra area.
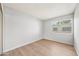
[(15, 50), (4, 53), (5, 56), (76, 56), (73, 46), (51, 41), (39, 40)]

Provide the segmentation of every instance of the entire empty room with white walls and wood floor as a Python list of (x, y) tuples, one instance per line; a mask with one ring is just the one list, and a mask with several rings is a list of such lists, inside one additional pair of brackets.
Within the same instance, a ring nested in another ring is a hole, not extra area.
[(1, 3), (0, 54), (78, 56), (78, 3)]

